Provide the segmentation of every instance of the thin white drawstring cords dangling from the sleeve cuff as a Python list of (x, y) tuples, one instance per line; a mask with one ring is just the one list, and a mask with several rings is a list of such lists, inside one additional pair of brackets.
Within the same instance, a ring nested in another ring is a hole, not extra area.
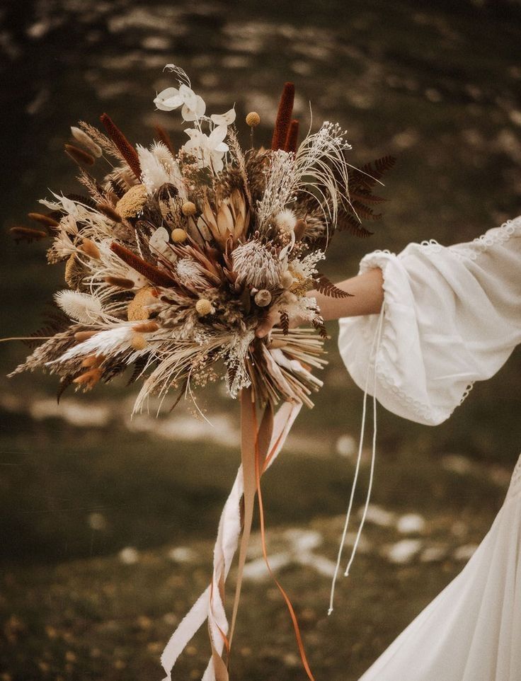
[(349, 505), (348, 505), (348, 512), (345, 514), (345, 522), (344, 522), (344, 527), (342, 531), (342, 539), (340, 539), (340, 546), (338, 547), (338, 556), (336, 558), (336, 566), (335, 566), (335, 573), (333, 575), (333, 581), (331, 583), (331, 594), (329, 597), (329, 607), (328, 607), (328, 615), (330, 615), (333, 612), (333, 600), (335, 597), (335, 587), (336, 587), (336, 580), (338, 579), (338, 572), (340, 571), (340, 561), (342, 560), (342, 552), (345, 544), (345, 537), (348, 534), (348, 526), (349, 526), (349, 521), (351, 517), (351, 512), (353, 510), (353, 500), (355, 499), (355, 491), (356, 491), (356, 486), (357, 486), (357, 481), (358, 481), (358, 474), (360, 473), (360, 464), (362, 462), (362, 447), (364, 445), (364, 435), (365, 435), (365, 416), (367, 413), (367, 393), (369, 391), (369, 379), (370, 379), (370, 374), (371, 374), (371, 369), (373, 370), (373, 375), (374, 375), (374, 387), (373, 387), (373, 437), (372, 437), (372, 455), (371, 455), (371, 473), (370, 473), (370, 481), (369, 481), (369, 486), (367, 488), (367, 497), (365, 500), (365, 508), (364, 508), (364, 513), (362, 516), (362, 520), (360, 522), (360, 527), (358, 527), (358, 532), (357, 536), (355, 539), (355, 544), (353, 545), (353, 551), (351, 552), (350, 560), (348, 563), (348, 567), (345, 571), (345, 576), (348, 575), (350, 567), (353, 563), (353, 560), (355, 559), (355, 554), (356, 550), (358, 547), (358, 542), (360, 541), (360, 535), (362, 534), (362, 527), (365, 522), (365, 517), (367, 515), (367, 508), (369, 506), (369, 500), (370, 500), (370, 495), (371, 495), (371, 490), (372, 490), (372, 481), (373, 481), (373, 476), (374, 476), (374, 461), (376, 459), (376, 437), (377, 437), (377, 401), (376, 401), (376, 388), (377, 388), (377, 357), (380, 349), (380, 340), (382, 337), (382, 328), (383, 328), (383, 321), (384, 321), (384, 306), (385, 302), (382, 303), (382, 309), (380, 310), (380, 314), (378, 317), (378, 323), (377, 323), (377, 328), (373, 336), (372, 340), (372, 346), (371, 346), (371, 351), (369, 358), (367, 360), (367, 375), (365, 379), (365, 388), (364, 388), (364, 399), (362, 402), (362, 423), (360, 425), (360, 442), (358, 445), (358, 454), (357, 454), (357, 461), (356, 461), (356, 467), (355, 467), (355, 476), (353, 478), (353, 486), (351, 486), (351, 494), (349, 498)]

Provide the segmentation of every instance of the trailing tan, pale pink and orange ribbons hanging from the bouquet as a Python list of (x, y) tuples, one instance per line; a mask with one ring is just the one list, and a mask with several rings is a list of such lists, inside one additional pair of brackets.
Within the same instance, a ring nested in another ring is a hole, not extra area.
[[(244, 389), (241, 392), (241, 465), (219, 520), (217, 540), (214, 545), (212, 582), (181, 620), (181, 623), (166, 644), (166, 648), (161, 656), (161, 665), (163, 665), (166, 672), (164, 681), (171, 681), (172, 670), (176, 660), (205, 621), (208, 624), (212, 656), (205, 673), (202, 675), (202, 681), (229, 680), (227, 663), (224, 661), (223, 653), (226, 650), (227, 656), (229, 656), (231, 639), (234, 634), (236, 612), (241, 593), (242, 571), (246, 561), (246, 550), (251, 532), (253, 501), (257, 493), (260, 505), (263, 554), (266, 563), (268, 563), (265, 550), (262, 498), (260, 496), (260, 475), (275, 462), (301, 408), (302, 404), (300, 403), (285, 402), (275, 416), (273, 416), (273, 411), (268, 406), (260, 420), (260, 425), (258, 425), (253, 391), (251, 389)], [(244, 521), (242, 523), (241, 510)], [(239, 549), (239, 567), (234, 607), (231, 626), (229, 626), (224, 610), (224, 583), (239, 546), (241, 525), (244, 525), (244, 527), (242, 528), (242, 539)], [(273, 576), (269, 563), (268, 570)], [(304, 668), (307, 671), (308, 677), (313, 680), (305, 658), (297, 620), (294, 616), (291, 603), (277, 580), (275, 582), (281, 590), (282, 596), (290, 610)]]

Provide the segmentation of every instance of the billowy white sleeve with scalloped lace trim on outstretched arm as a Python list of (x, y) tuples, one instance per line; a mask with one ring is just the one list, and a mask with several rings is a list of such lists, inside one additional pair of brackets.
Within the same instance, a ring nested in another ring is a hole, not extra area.
[(340, 355), (389, 411), (437, 425), (521, 342), (521, 217), (468, 244), (374, 251), (360, 273), (377, 267), (381, 328), (377, 314), (340, 319)]

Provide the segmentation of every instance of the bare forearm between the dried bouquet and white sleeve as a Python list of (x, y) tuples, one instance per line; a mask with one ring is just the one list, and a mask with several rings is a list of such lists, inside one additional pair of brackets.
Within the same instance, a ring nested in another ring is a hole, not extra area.
[(336, 284), (336, 287), (351, 294), (348, 298), (333, 298), (318, 291), (309, 291), (307, 295), (316, 298), (326, 321), (361, 314), (378, 314), (384, 302), (383, 281), (382, 270), (374, 268)]

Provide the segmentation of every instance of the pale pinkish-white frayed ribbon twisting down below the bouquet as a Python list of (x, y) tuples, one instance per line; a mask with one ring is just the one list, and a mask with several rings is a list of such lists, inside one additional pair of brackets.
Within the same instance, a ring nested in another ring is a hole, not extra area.
[[(301, 408), (302, 404), (285, 402), (275, 414), (275, 418), (273, 419), (273, 435), (268, 450), (271, 456), (266, 462), (267, 469), (273, 464), (280, 453), (280, 450), (282, 450), (287, 435), (290, 433), (290, 429)], [(219, 581), (221, 578), (226, 580), (234, 554), (239, 545), (239, 537), (241, 534), (239, 508), (243, 489), (244, 481), (242, 466), (240, 466), (219, 520), (219, 530), (217, 531), (217, 540), (214, 546), (214, 572), (212, 584), (207, 587), (190, 611), (185, 614), (185, 617), (183, 617), (176, 631), (173, 632), (171, 639), (166, 644), (163, 654), (161, 655), (161, 665), (163, 665), (166, 672), (166, 677), (163, 681), (172, 680), (172, 669), (176, 664), (176, 660), (181, 655), (190, 639), (192, 639), (197, 630), (200, 629), (200, 626), (204, 624), (206, 619), (209, 619), (214, 648), (219, 655), (222, 654), (224, 640), (219, 629), (217, 629), (217, 626), (219, 626), (224, 634), (227, 634), (228, 622), (219, 594)], [(212, 604), (210, 603), (210, 593), (212, 593), (213, 596)], [(215, 681), (212, 658), (210, 658), (202, 679), (203, 681)]]

